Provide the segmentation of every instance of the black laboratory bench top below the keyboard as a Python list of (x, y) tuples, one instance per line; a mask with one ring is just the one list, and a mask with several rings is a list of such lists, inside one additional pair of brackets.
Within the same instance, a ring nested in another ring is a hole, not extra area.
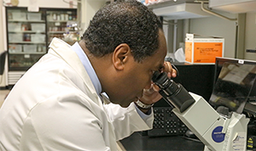
[(204, 144), (183, 136), (148, 137), (143, 132), (134, 132), (121, 140), (126, 151), (203, 151)]

